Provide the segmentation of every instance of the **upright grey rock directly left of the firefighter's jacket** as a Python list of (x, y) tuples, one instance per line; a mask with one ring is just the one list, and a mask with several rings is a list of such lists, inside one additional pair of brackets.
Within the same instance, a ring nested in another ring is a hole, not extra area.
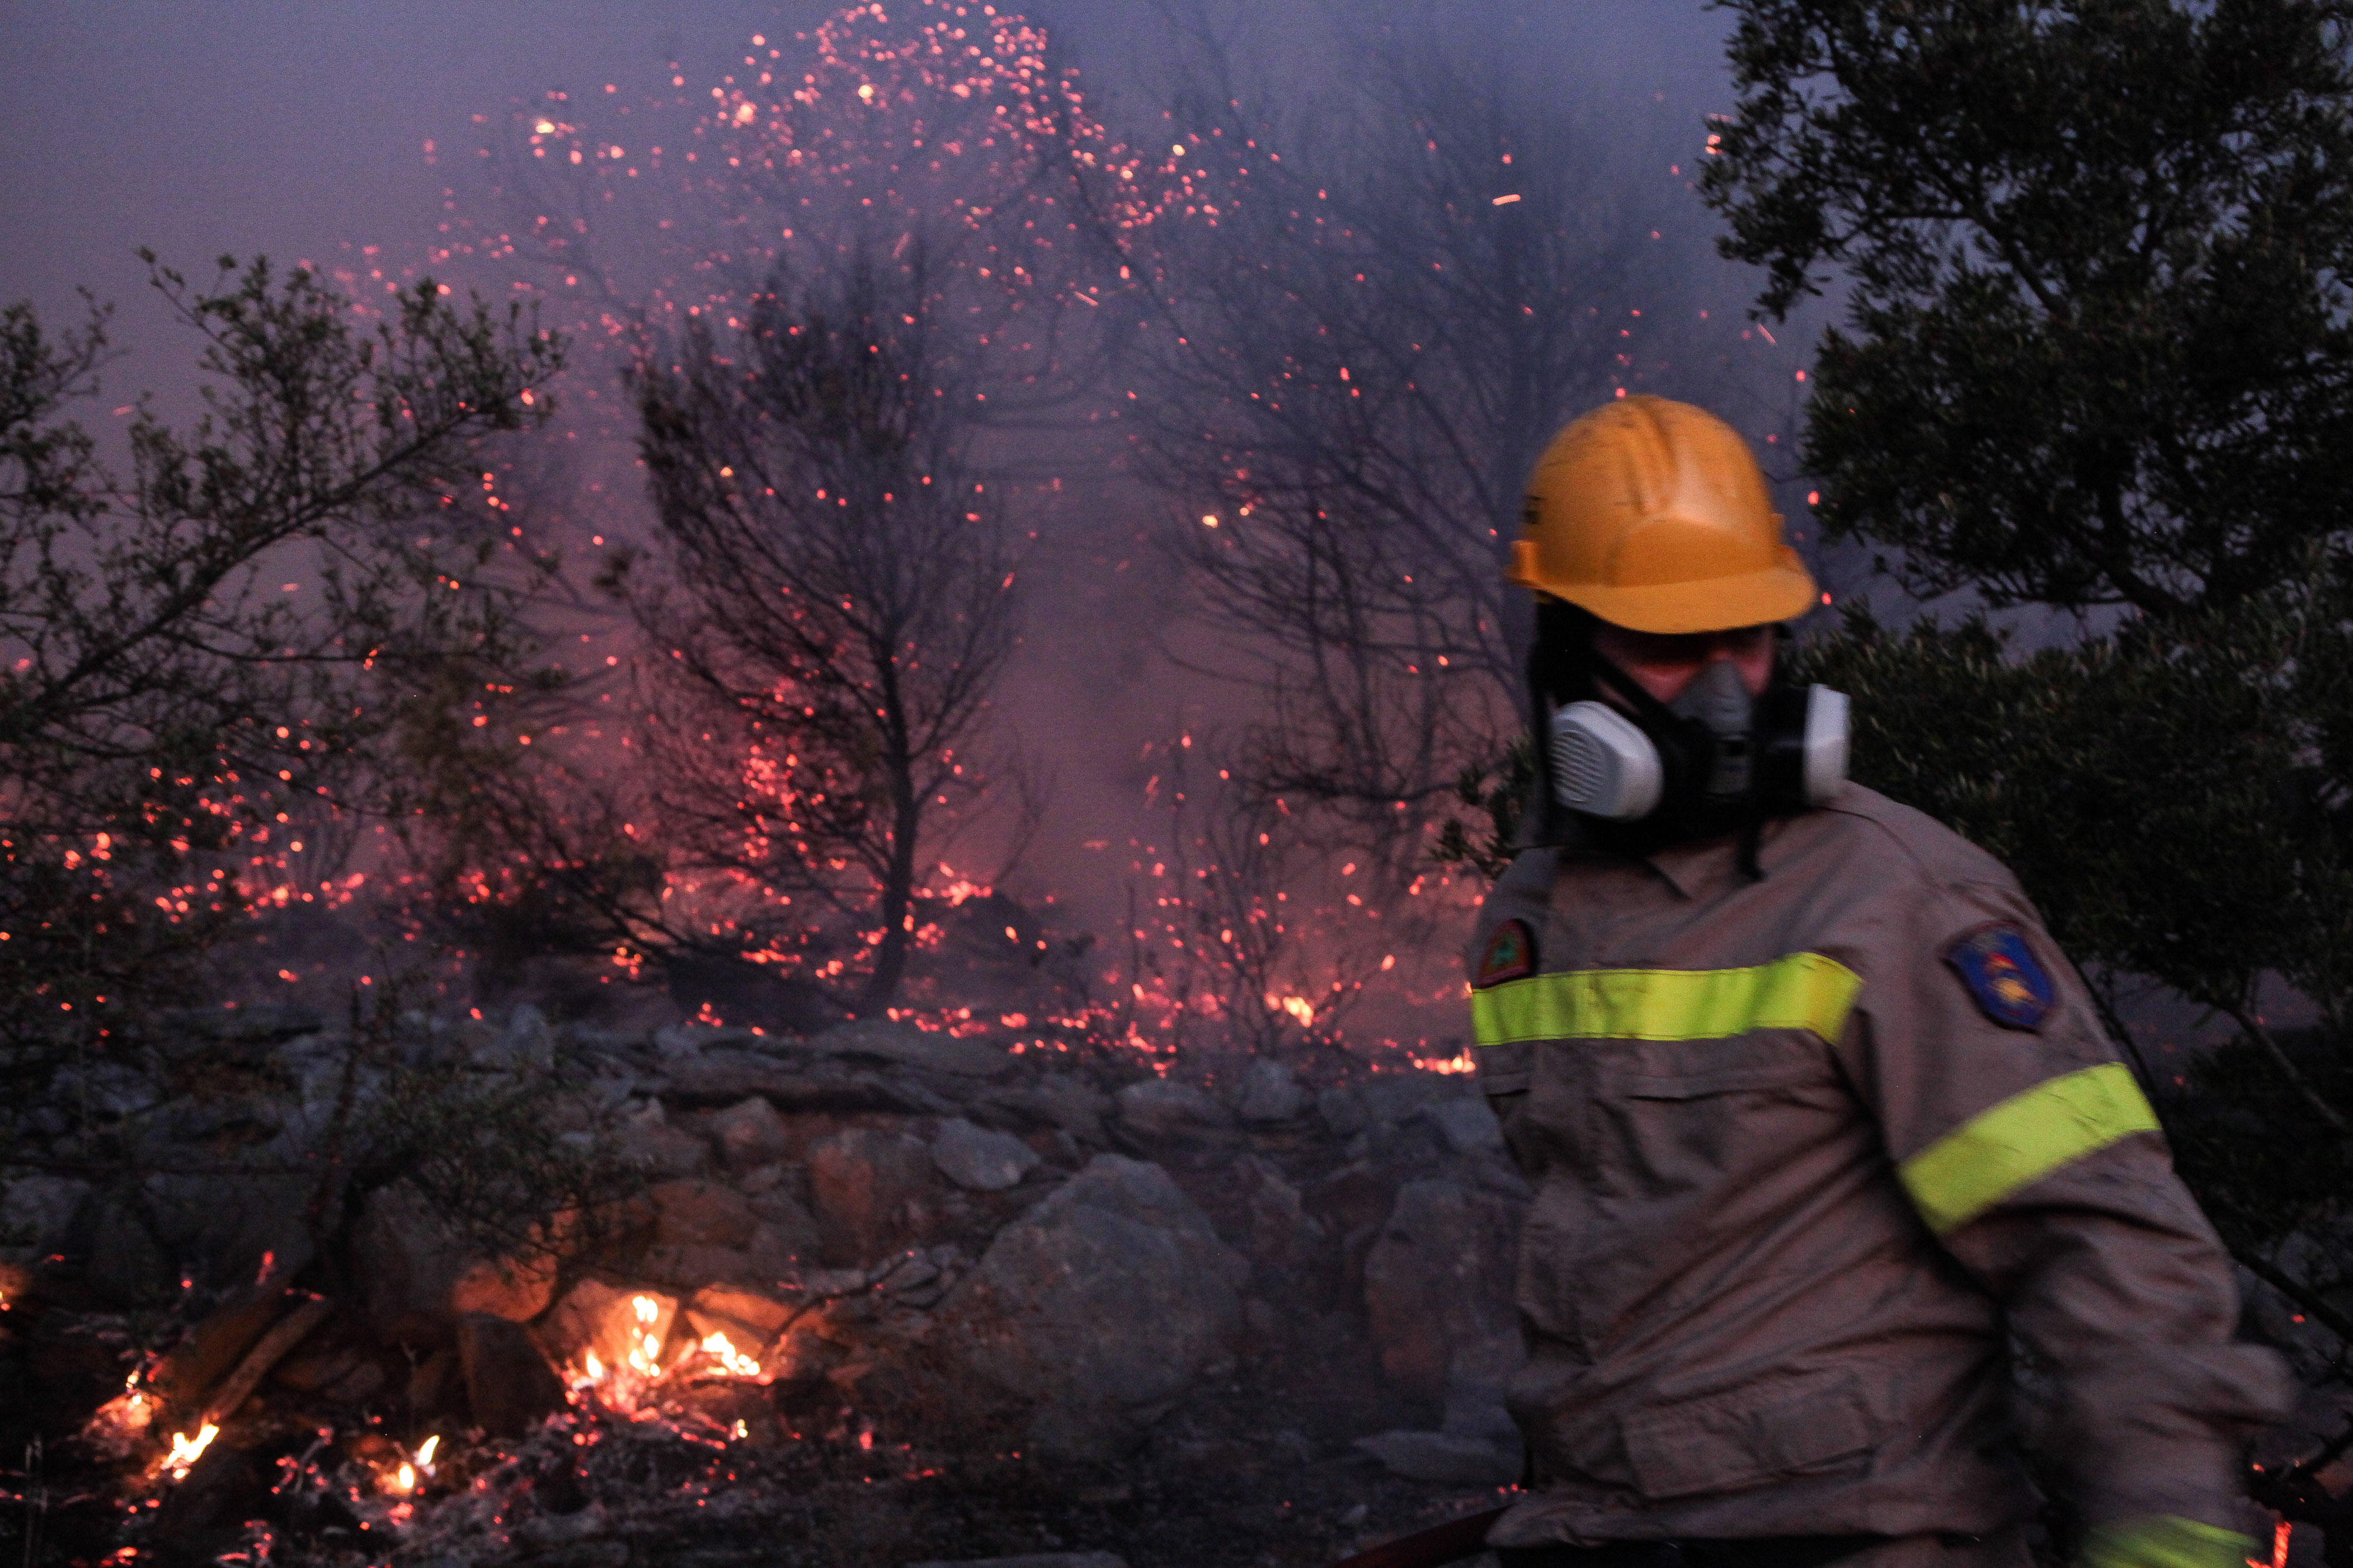
[(1518, 1218), (1504, 1199), (1452, 1178), (1398, 1187), (1365, 1255), (1365, 1312), (1381, 1371), (1400, 1392), (1445, 1401), (1457, 1361), (1508, 1375), (1520, 1345)]

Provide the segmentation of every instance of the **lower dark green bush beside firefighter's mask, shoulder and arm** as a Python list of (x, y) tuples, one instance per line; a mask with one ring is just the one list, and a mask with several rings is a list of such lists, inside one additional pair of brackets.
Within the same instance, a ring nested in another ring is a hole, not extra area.
[[(2151, 1072), (2113, 1020), (2224, 1241), (2315, 1312), (2353, 1284), (2348, 614), (2344, 585), (2292, 585), (2024, 656), (1984, 621), (1892, 632), (1857, 614), (1795, 670), (1854, 698), (1854, 778), (2019, 875), (2111, 1020), (2118, 983), (2155, 976), (2238, 1025)], [(2320, 1030), (2273, 1037), (2266, 971)]]

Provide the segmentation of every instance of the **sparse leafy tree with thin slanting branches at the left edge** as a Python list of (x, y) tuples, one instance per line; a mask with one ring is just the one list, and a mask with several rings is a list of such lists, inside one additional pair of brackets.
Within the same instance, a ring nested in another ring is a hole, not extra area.
[(207, 411), (174, 430), (139, 404), (122, 477), (71, 416), (104, 313), (64, 336), (0, 313), (12, 1088), (186, 999), (242, 914), (325, 900), (304, 837), (400, 811), (424, 693), (529, 644), (459, 494), (478, 442), (546, 411), (553, 339), (431, 282), (374, 329), (266, 261), (153, 284), (202, 343)]

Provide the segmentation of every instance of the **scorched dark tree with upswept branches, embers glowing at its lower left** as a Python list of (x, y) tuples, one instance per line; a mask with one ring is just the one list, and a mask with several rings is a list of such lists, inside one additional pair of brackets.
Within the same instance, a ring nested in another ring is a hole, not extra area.
[[(979, 788), (972, 745), (1014, 644), (1000, 501), (972, 477), (920, 256), (779, 280), (720, 336), (696, 317), (633, 376), (668, 583), (631, 590), (664, 686), (654, 795), (685, 875), (741, 898), (746, 957), (906, 973), (922, 849)], [(727, 931), (727, 926), (734, 926)]]

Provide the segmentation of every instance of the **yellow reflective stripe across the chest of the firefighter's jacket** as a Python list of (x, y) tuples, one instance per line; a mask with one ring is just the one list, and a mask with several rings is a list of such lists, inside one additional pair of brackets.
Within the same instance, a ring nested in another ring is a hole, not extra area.
[(1579, 969), (1471, 992), (1482, 1046), (1520, 1039), (1732, 1039), (1748, 1030), (1847, 1027), (1864, 978), (1819, 952), (1753, 969)]

